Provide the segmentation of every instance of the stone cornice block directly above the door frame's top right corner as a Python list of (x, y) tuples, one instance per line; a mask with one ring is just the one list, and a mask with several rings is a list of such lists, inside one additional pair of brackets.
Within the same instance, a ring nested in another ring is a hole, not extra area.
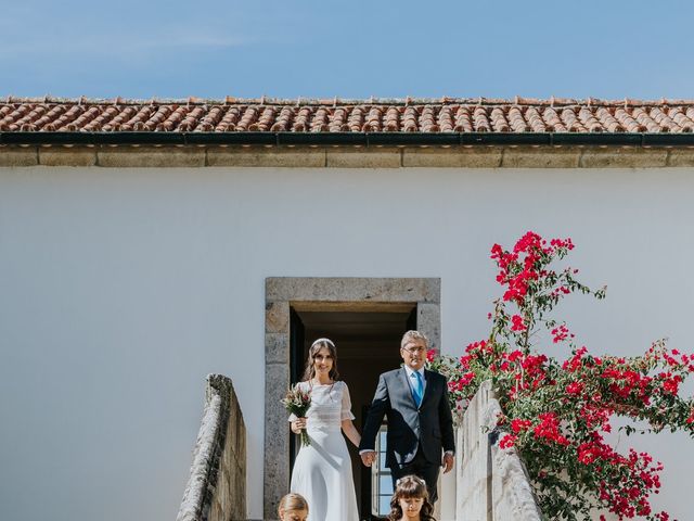
[(404, 167), (498, 168), (501, 147), (407, 148), (402, 150)]

